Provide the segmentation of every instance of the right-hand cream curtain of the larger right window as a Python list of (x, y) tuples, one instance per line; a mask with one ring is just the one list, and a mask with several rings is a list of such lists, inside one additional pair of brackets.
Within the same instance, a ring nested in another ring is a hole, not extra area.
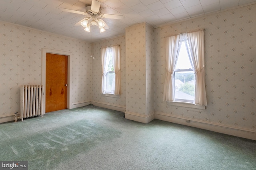
[(206, 90), (204, 79), (204, 30), (187, 33), (188, 44), (190, 45), (191, 60), (194, 65), (196, 76), (195, 103), (199, 106), (206, 106)]

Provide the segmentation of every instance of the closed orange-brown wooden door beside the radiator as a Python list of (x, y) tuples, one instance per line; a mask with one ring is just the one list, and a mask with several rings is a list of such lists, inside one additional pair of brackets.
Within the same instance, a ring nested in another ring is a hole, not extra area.
[(46, 53), (45, 112), (68, 105), (68, 56)]

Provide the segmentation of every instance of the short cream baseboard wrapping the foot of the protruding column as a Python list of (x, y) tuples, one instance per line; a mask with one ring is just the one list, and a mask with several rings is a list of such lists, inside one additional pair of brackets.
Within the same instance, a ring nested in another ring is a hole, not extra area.
[(124, 113), (124, 117), (129, 120), (134, 120), (142, 123), (149, 123), (150, 121), (155, 119), (155, 114), (150, 113), (149, 115), (140, 115), (138, 113), (126, 111)]

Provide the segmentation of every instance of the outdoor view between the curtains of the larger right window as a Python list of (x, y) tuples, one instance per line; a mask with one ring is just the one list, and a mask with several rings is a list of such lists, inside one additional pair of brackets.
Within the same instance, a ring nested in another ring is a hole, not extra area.
[(180, 53), (174, 70), (175, 100), (193, 102), (195, 96), (195, 74), (188, 57), (185, 41), (181, 42)]

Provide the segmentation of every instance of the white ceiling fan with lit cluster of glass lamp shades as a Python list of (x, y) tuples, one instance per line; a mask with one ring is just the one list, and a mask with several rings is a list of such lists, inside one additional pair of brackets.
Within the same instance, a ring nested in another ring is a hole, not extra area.
[(85, 31), (90, 32), (90, 26), (91, 25), (97, 25), (100, 28), (100, 32), (105, 31), (105, 29), (108, 29), (108, 25), (101, 19), (101, 18), (110, 18), (110, 19), (124, 19), (124, 16), (121, 15), (113, 15), (113, 14), (102, 14), (101, 8), (100, 8), (100, 2), (97, 0), (92, 0), (92, 4), (90, 6), (86, 6), (86, 11), (76, 11), (76, 10), (70, 10), (66, 8), (59, 8), (62, 11), (65, 12), (72, 12), (76, 14), (82, 14), (86, 16), (86, 18), (82, 19), (75, 25), (82, 25)]

